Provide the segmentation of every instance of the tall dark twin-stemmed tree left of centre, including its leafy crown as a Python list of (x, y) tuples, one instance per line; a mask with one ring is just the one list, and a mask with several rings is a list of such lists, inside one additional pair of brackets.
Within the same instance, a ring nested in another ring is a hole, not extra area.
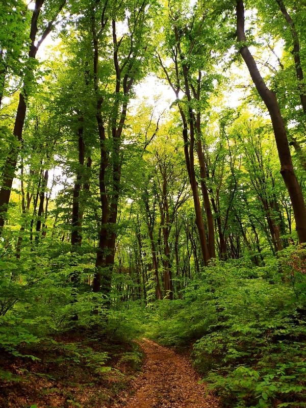
[[(113, 5), (114, 10), (107, 10), (108, 3), (101, 6), (100, 27), (97, 30), (96, 17), (92, 10), (91, 34), (93, 41), (93, 81), (96, 95), (96, 120), (100, 143), (99, 194), (101, 218), (99, 244), (96, 256), (96, 274), (93, 291), (101, 291), (108, 296), (111, 290), (112, 269), (115, 256), (116, 221), (120, 196), (120, 177), (122, 166), (122, 137), (126, 120), (127, 105), (131, 97), (133, 84), (141, 78), (146, 54), (144, 38), (148, 29), (148, 2), (131, 2), (125, 5)], [(109, 25), (108, 25), (109, 22)], [(126, 25), (126, 33), (118, 34), (118, 26)], [(103, 95), (98, 75), (98, 56), (101, 52), (101, 33), (110, 28), (112, 33), (112, 74), (114, 83), (109, 99)], [(109, 105), (109, 117), (103, 113), (105, 104)], [(107, 133), (110, 135), (107, 139)], [(110, 179), (107, 182), (107, 173)]]

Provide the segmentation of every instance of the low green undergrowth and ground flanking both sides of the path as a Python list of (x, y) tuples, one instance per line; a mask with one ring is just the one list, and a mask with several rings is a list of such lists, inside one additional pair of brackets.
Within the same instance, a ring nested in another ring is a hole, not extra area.
[(143, 335), (191, 346), (224, 407), (306, 406), (305, 249), (287, 248), (264, 267), (216, 261), (180, 298), (145, 307), (113, 294), (110, 311), (88, 285), (75, 290), (71, 271), (90, 259), (74, 255), (71, 266), (70, 255), (0, 262), (1, 406), (107, 406), (139, 369), (132, 340)]

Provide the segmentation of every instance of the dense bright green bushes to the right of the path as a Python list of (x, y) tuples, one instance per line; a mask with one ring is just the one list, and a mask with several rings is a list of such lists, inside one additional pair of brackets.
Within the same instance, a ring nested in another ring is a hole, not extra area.
[(292, 269), (304, 249), (288, 251), (266, 267), (241, 260), (206, 268), (146, 326), (163, 344), (194, 344), (194, 364), (224, 406), (306, 405), (306, 279)]

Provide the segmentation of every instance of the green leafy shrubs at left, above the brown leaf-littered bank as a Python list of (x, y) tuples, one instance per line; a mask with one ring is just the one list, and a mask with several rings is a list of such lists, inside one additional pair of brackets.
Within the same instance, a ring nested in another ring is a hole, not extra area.
[[(57, 263), (52, 261), (53, 257)], [(75, 326), (105, 328), (105, 299), (94, 295), (88, 285), (74, 287), (69, 282), (75, 270), (80, 279), (90, 273), (92, 264), (88, 257), (88, 254), (73, 257), (70, 252), (59, 253), (56, 247), (46, 254), (42, 247), (23, 257), (22, 262), (9, 256), (6, 261), (0, 261), (0, 347), (3, 350), (34, 360), (34, 355), (20, 353), (20, 347)], [(73, 320), (76, 315), (77, 321)]]

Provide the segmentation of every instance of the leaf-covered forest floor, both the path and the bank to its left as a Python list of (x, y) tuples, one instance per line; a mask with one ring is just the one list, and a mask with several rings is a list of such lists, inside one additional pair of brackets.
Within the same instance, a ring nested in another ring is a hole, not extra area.
[(20, 350), (34, 361), (0, 353), (0, 407), (219, 407), (187, 356), (151, 340), (136, 343), (66, 334)]

